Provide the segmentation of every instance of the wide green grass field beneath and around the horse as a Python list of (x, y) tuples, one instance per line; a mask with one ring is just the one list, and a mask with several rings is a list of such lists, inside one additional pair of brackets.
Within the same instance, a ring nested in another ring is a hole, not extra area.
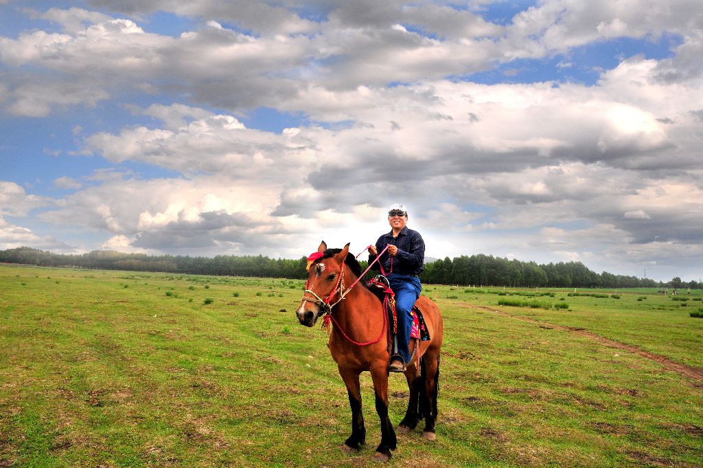
[[(574, 331), (701, 368), (695, 293), (425, 286), (444, 314), (437, 441), (399, 436), (388, 465), (703, 466), (703, 381)], [(347, 455), (347, 393), (324, 332), (297, 324), (301, 296), (283, 279), (0, 265), (0, 467), (374, 466), (370, 376), (367, 445)]]

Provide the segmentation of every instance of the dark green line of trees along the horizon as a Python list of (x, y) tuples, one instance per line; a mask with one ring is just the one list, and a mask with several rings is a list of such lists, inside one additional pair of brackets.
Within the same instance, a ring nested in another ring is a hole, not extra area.
[[(0, 262), (37, 265), (42, 267), (78, 267), (101, 270), (131, 270), (244, 277), (275, 277), (305, 279), (307, 258), (272, 259), (264, 255), (217, 255), (191, 257), (187, 255), (146, 255), (115, 251), (92, 251), (83, 254), (58, 254), (35, 248), (20, 247), (0, 251)], [(366, 261), (361, 265), (366, 269)], [(549, 263), (508, 260), (493, 255), (462, 255), (425, 263), (420, 274), (425, 284), (456, 284), (458, 286), (572, 287), (572, 288), (691, 288), (703, 289), (703, 283), (670, 282), (623, 276), (589, 270), (581, 262)]]

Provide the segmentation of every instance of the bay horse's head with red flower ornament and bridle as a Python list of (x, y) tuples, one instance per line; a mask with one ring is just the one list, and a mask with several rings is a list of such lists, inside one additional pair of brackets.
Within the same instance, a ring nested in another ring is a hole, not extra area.
[(296, 310), (298, 321), (306, 327), (314, 327), (318, 318), (330, 311), (330, 303), (344, 287), (344, 261), (349, 255), (349, 244), (342, 249), (328, 249), (322, 241), (317, 252), (310, 255), (305, 293)]

